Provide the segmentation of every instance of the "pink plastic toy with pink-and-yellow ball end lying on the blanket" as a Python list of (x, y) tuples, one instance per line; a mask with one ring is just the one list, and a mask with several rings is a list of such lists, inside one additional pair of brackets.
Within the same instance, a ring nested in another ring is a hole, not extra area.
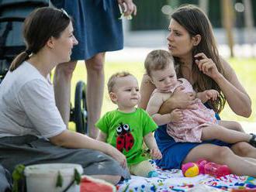
[(195, 177), (199, 173), (209, 174), (213, 177), (223, 177), (230, 174), (230, 169), (226, 165), (207, 162), (206, 159), (199, 159), (196, 163), (183, 164), (182, 173), (185, 177)]

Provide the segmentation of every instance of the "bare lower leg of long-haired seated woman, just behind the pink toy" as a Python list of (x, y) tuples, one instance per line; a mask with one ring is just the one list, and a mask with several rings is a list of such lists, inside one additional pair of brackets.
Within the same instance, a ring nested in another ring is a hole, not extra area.
[(196, 146), (185, 157), (183, 163), (196, 162), (198, 159), (206, 159), (214, 163), (227, 165), (230, 167), (231, 172), (237, 175), (256, 177), (256, 163), (237, 156), (227, 146), (215, 146), (213, 144)]

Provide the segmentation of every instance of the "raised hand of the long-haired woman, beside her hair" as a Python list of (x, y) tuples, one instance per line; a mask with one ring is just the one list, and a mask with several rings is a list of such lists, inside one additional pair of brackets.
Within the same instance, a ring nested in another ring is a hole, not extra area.
[(194, 57), (195, 63), (203, 74), (206, 74), (213, 80), (216, 80), (217, 77), (220, 77), (221, 74), (212, 59), (206, 57), (204, 53), (198, 53)]

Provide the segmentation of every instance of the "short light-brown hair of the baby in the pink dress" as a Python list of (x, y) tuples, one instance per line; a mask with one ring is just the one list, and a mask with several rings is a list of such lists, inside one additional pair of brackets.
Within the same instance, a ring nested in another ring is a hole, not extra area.
[(144, 62), (147, 75), (151, 77), (152, 70), (163, 70), (168, 64), (174, 64), (174, 59), (166, 50), (152, 50)]

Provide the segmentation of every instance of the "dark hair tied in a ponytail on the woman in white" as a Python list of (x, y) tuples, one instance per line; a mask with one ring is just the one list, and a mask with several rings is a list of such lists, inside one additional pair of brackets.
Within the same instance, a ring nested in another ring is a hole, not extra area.
[(71, 18), (63, 9), (44, 7), (31, 12), (23, 26), (26, 50), (12, 61), (9, 70), (16, 70), (31, 53), (41, 50), (51, 36), (59, 38), (70, 22)]

